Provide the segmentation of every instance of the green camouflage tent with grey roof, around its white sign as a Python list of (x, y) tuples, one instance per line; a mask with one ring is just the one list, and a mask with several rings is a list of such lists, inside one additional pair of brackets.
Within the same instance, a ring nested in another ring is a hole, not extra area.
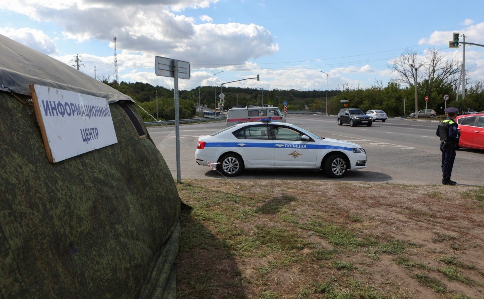
[[(117, 143), (49, 163), (29, 84), (108, 99)], [(0, 298), (175, 298), (180, 198), (134, 101), (0, 35)]]

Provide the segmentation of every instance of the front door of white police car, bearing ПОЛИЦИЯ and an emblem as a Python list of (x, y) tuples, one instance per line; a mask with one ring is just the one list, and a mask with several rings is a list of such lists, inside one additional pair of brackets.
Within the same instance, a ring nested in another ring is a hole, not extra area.
[(274, 139), (275, 166), (315, 168), (318, 150), (316, 142), (301, 140), (301, 132), (293, 128), (270, 125)]

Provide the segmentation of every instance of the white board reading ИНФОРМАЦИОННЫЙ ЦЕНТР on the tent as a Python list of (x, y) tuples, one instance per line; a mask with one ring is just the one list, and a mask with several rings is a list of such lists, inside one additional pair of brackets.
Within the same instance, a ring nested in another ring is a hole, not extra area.
[(118, 142), (106, 99), (30, 85), (50, 163)]

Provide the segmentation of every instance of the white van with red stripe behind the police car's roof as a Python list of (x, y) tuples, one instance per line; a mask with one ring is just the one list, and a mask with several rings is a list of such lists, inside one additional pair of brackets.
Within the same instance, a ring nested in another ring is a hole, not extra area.
[(270, 118), (272, 122), (285, 122), (286, 118), (280, 113), (278, 107), (235, 107), (227, 111), (227, 127), (232, 125), (260, 122), (260, 119)]

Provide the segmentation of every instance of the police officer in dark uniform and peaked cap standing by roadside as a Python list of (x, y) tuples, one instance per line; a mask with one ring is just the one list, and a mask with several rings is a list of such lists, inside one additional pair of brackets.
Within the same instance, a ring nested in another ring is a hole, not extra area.
[(440, 151), (442, 152), (442, 184), (455, 186), (451, 180), (452, 167), (456, 158), (456, 147), (459, 144), (459, 133), (454, 118), (459, 110), (448, 107), (444, 110), (447, 118), (437, 127), (436, 135), (440, 137)]

